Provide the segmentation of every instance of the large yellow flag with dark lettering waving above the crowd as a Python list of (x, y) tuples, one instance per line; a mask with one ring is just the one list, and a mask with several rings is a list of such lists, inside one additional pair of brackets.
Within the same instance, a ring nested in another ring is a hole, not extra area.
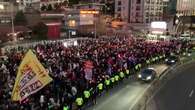
[(22, 101), (41, 90), (52, 80), (36, 55), (29, 50), (18, 68), (11, 99)]

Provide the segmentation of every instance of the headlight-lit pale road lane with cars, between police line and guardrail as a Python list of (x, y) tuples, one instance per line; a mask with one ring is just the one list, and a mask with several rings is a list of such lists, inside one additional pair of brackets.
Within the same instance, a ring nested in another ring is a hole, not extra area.
[[(152, 67), (158, 74), (168, 68), (163, 64)], [(141, 83), (135, 77), (131, 77), (99, 97), (96, 105), (87, 107), (85, 110), (131, 110), (149, 87), (150, 84)]]

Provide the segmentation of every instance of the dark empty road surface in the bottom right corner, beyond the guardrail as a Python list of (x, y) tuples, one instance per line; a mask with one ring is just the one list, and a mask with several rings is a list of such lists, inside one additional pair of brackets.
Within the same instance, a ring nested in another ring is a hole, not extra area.
[(145, 110), (195, 110), (195, 63), (176, 72)]

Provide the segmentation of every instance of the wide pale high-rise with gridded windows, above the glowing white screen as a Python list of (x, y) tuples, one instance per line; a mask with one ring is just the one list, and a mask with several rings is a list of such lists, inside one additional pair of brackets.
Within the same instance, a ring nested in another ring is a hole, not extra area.
[(115, 0), (115, 14), (128, 23), (148, 24), (163, 19), (165, 3), (165, 0)]

